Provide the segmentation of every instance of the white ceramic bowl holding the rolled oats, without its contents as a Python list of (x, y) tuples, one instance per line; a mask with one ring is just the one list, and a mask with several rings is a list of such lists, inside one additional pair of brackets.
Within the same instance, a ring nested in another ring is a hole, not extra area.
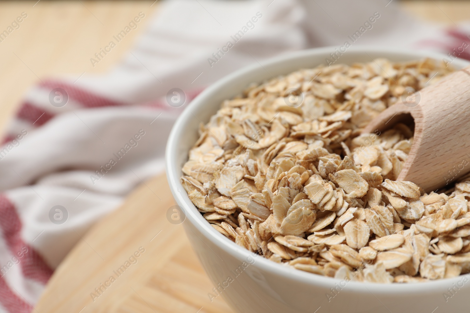
[[(221, 296), (238, 313), (469, 312), (469, 275), (416, 284), (376, 284), (345, 282), (284, 267), (256, 256), (213, 229), (183, 189), (181, 168), (198, 137), (198, 125), (208, 122), (224, 99), (231, 99), (250, 83), (270, 79), (271, 75), (325, 65), (325, 58), (334, 51), (334, 47), (305, 50), (271, 59), (262, 66), (255, 64), (237, 70), (198, 95), (173, 126), (166, 147), (167, 177), (176, 202), (186, 214), (183, 225), (188, 238), (217, 286), (217, 292), (207, 290), (208, 298)], [(445, 55), (350, 47), (337, 63), (369, 62), (377, 57), (410, 61), (423, 57), (442, 60)], [(456, 59), (452, 65), (460, 69), (469, 63)]]

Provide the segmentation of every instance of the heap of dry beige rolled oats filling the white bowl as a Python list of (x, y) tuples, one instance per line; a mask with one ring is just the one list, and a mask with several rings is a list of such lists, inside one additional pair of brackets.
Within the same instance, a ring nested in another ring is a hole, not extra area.
[(449, 72), (376, 59), (253, 84), (200, 125), (181, 183), (214, 229), (283, 266), (383, 283), (468, 273), (470, 182), (425, 194), (395, 181), (413, 130), (361, 134)]

